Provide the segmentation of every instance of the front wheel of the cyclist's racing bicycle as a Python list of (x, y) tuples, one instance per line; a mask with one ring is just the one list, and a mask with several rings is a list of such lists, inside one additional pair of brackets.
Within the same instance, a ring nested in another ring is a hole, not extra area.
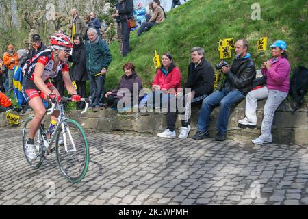
[(84, 179), (89, 165), (88, 140), (75, 120), (65, 120), (56, 130), (55, 155), (62, 174), (72, 183)]

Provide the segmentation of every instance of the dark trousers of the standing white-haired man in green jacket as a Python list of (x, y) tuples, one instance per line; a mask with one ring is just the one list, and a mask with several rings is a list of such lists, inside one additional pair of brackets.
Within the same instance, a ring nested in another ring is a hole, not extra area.
[(102, 107), (103, 98), (105, 95), (105, 76), (99, 75), (95, 77), (94, 75), (88, 75), (90, 79), (90, 96), (92, 98), (91, 107)]

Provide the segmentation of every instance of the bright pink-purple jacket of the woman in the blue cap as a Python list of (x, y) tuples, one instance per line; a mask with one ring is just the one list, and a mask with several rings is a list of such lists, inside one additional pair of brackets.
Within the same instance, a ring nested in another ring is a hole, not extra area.
[(268, 89), (289, 92), (290, 87), (290, 63), (285, 57), (278, 60), (270, 59), (272, 66), (270, 69), (262, 69), (262, 74), (266, 76)]

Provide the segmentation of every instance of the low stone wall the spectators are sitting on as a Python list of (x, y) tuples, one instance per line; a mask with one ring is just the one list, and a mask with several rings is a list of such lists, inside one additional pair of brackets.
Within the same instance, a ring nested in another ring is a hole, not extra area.
[[(251, 140), (257, 138), (260, 133), (261, 120), (263, 115), (264, 101), (258, 102), (257, 127), (255, 129), (240, 129), (238, 120), (244, 118), (245, 101), (239, 103), (231, 109), (231, 116), (228, 125), (228, 138)], [(190, 136), (196, 133), (196, 123), (198, 119), (198, 107), (192, 108), (192, 131)], [(308, 115), (307, 105), (296, 111), (294, 115), (290, 113), (291, 107), (288, 103), (283, 103), (276, 111), (272, 126), (272, 136), (275, 143), (283, 144), (308, 144)], [(95, 132), (127, 131), (143, 134), (155, 135), (166, 129), (166, 113), (119, 113), (116, 110), (100, 110), (92, 112), (88, 110), (86, 114), (80, 114), (80, 110), (73, 110), (68, 117), (77, 120), (84, 129)], [(211, 114), (211, 124), (209, 135), (214, 137), (216, 133), (216, 119), (219, 107)], [(28, 114), (21, 116), (21, 124)], [(0, 127), (8, 125), (5, 121), (5, 113), (0, 114)], [(177, 134), (181, 127), (181, 120), (177, 120)]]

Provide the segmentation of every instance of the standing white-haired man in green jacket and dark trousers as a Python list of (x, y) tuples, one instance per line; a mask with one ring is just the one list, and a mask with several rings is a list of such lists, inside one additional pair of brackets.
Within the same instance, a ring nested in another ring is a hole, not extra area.
[(112, 61), (112, 55), (106, 42), (99, 38), (96, 29), (88, 29), (87, 34), (89, 40), (86, 42), (86, 69), (90, 79), (90, 96), (92, 98), (90, 109), (99, 109), (103, 107), (105, 77)]

